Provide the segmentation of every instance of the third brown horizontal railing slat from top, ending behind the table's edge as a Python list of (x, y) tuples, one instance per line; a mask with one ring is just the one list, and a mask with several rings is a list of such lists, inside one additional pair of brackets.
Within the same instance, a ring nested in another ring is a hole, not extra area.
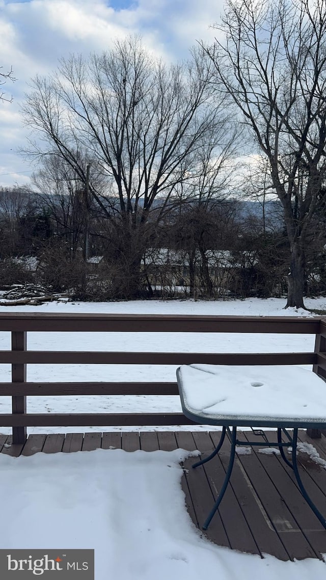
[(178, 395), (177, 383), (0, 383), (0, 396)]

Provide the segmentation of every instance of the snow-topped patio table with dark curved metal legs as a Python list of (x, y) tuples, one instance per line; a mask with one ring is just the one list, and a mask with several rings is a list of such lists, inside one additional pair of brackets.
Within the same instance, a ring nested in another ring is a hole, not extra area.
[[(215, 457), (226, 434), (231, 441), (229, 465), (215, 505), (202, 526), (207, 530), (229, 484), (236, 446), (276, 446), (282, 459), (293, 469), (302, 495), (326, 529), (325, 517), (311, 501), (300, 478), (296, 452), (298, 429), (326, 429), (326, 385), (312, 371), (289, 365), (229, 366), (191, 364), (176, 371), (183, 414), (201, 425), (218, 425), (222, 434), (216, 449), (207, 458), (194, 463), (198, 467)], [(232, 431), (230, 429), (232, 427)], [(264, 441), (239, 441), (238, 427), (251, 427)], [(262, 430), (277, 430), (277, 442), (267, 441)], [(293, 430), (290, 434), (288, 429)], [(282, 441), (282, 433), (287, 441)], [(284, 447), (292, 447), (292, 462)]]

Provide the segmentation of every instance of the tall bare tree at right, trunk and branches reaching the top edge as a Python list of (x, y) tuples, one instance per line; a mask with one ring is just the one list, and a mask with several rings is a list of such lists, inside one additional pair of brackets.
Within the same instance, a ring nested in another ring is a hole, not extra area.
[[(224, 40), (206, 47), (269, 162), (291, 260), (288, 306), (304, 307), (306, 247), (326, 176), (325, 0), (227, 0)], [(220, 37), (222, 38), (222, 37)]]

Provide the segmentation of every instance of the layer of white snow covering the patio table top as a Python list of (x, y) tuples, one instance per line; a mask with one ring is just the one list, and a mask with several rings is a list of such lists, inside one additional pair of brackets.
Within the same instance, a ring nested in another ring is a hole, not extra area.
[(326, 385), (311, 371), (287, 365), (192, 364), (180, 367), (184, 407), (216, 420), (278, 419), (326, 425)]

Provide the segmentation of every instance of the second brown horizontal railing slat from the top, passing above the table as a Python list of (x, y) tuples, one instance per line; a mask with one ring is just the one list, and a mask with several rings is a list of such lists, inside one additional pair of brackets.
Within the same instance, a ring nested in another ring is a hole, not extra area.
[(10, 364), (315, 364), (316, 353), (135, 353), (89, 351), (0, 351)]

